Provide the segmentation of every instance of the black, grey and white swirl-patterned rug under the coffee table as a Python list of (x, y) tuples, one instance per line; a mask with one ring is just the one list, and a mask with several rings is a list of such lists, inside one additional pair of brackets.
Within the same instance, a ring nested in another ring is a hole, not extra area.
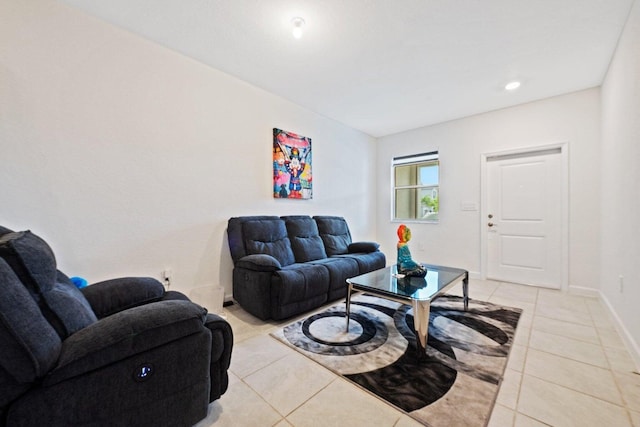
[(424, 425), (485, 426), (522, 310), (442, 296), (431, 304), (427, 357), (417, 357), (412, 309), (358, 295), (272, 335)]

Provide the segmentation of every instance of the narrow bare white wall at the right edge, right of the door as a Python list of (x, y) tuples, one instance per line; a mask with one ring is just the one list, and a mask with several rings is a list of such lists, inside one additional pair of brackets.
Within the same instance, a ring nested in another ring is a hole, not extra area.
[[(640, 366), (640, 2), (602, 86), (602, 274), (605, 301)], [(620, 288), (620, 276), (623, 287)]]

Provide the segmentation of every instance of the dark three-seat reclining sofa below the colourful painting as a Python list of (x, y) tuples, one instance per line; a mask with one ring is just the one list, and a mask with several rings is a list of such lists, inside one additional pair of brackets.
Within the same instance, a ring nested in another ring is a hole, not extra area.
[(339, 216), (229, 219), (233, 298), (262, 319), (281, 320), (347, 294), (346, 279), (382, 268), (375, 242), (352, 242)]

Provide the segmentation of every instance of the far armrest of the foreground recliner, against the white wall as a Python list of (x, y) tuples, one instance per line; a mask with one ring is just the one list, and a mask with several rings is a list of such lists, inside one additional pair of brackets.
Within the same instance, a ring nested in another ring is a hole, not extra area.
[(162, 283), (151, 277), (123, 277), (105, 280), (80, 289), (98, 319), (122, 310), (159, 301)]

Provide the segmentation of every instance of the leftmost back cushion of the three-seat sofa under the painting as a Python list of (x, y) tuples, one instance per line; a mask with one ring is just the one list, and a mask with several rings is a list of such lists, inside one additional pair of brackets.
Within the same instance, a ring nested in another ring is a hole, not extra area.
[(282, 267), (295, 263), (284, 220), (257, 219), (242, 225), (246, 255), (271, 255)]

